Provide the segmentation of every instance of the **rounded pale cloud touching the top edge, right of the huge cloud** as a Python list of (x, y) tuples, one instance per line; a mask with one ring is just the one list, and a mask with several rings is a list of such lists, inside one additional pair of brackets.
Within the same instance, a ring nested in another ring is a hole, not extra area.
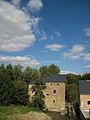
[(28, 3), (28, 7), (31, 11), (37, 12), (43, 7), (42, 0), (30, 0)]

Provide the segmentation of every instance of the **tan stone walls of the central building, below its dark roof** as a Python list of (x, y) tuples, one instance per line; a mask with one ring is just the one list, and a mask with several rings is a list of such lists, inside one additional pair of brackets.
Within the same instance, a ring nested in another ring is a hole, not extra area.
[[(29, 85), (29, 95), (33, 97), (31, 87), (32, 85)], [(61, 112), (65, 110), (65, 83), (46, 83), (43, 93), (45, 105), (49, 111)]]

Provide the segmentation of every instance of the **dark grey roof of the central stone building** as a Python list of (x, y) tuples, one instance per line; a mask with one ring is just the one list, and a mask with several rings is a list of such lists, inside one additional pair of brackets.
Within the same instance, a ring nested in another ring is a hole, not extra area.
[(44, 79), (46, 83), (55, 83), (55, 82), (60, 82), (60, 83), (65, 83), (66, 78), (65, 75), (57, 75), (57, 74), (53, 74), (50, 75), (49, 77)]

